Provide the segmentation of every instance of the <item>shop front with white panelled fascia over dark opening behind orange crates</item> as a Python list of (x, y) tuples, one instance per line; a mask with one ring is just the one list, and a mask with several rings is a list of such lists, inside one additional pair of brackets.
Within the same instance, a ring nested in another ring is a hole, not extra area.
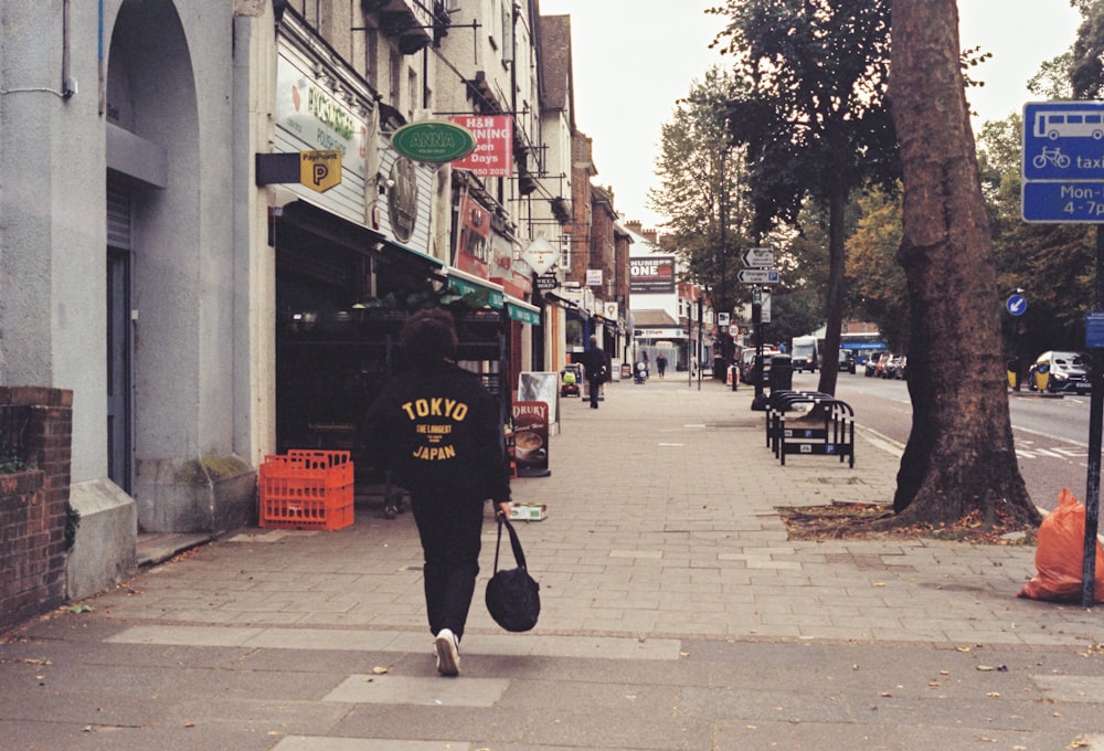
[[(275, 253), (275, 441), (347, 449), (414, 310), (448, 293), (431, 253), (433, 168), (391, 147), (395, 115), (295, 13), (277, 38), (274, 151), (340, 154), (340, 179), (268, 188)], [(258, 159), (259, 161), (259, 159)]]

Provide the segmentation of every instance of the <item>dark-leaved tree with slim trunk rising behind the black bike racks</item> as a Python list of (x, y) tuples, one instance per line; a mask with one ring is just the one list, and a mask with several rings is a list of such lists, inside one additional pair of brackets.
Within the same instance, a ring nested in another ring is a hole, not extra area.
[[(845, 210), (853, 190), (892, 182), (896, 150), (885, 106), (890, 0), (729, 0), (715, 12), (744, 85), (728, 116), (746, 145), (756, 226), (795, 224), (806, 198), (828, 216), (825, 349), (843, 317)], [(835, 393), (838, 362), (819, 390)]]

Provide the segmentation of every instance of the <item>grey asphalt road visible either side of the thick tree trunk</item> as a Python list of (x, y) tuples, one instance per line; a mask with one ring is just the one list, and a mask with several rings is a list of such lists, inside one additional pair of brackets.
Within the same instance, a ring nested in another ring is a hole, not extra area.
[[(794, 373), (795, 389), (816, 389), (819, 373)], [(851, 404), (860, 427), (903, 448), (912, 426), (912, 403), (904, 381), (840, 373), (836, 394)], [(1027, 390), (1009, 395), (1012, 435), (1020, 473), (1040, 508), (1058, 504), (1062, 487), (1084, 500), (1089, 470), (1089, 396), (1040, 396)]]

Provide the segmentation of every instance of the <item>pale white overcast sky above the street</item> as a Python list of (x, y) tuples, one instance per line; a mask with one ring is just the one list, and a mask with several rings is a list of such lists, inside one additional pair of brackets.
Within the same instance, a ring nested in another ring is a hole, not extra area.
[[(715, 0), (541, 0), (542, 15), (571, 15), (575, 121), (593, 140), (594, 182), (609, 186), (626, 220), (658, 228), (648, 208), (659, 188), (655, 160), (660, 127), (675, 101), (724, 57), (709, 43), (724, 27), (704, 9)], [(980, 45), (992, 57), (970, 76), (985, 82), (968, 97), (986, 120), (1004, 119), (1033, 101), (1027, 81), (1065, 52), (1080, 14), (1069, 0), (958, 0), (963, 49)]]

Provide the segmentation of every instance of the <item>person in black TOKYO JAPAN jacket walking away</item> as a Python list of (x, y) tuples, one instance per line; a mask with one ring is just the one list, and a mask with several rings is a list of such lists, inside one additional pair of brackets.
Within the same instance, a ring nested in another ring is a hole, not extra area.
[(437, 673), (460, 671), (459, 645), (479, 573), (484, 503), (510, 512), (510, 469), (493, 396), (458, 367), (453, 316), (414, 314), (399, 335), (404, 368), (383, 387), (362, 431), (367, 455), (411, 495), (424, 559)]

